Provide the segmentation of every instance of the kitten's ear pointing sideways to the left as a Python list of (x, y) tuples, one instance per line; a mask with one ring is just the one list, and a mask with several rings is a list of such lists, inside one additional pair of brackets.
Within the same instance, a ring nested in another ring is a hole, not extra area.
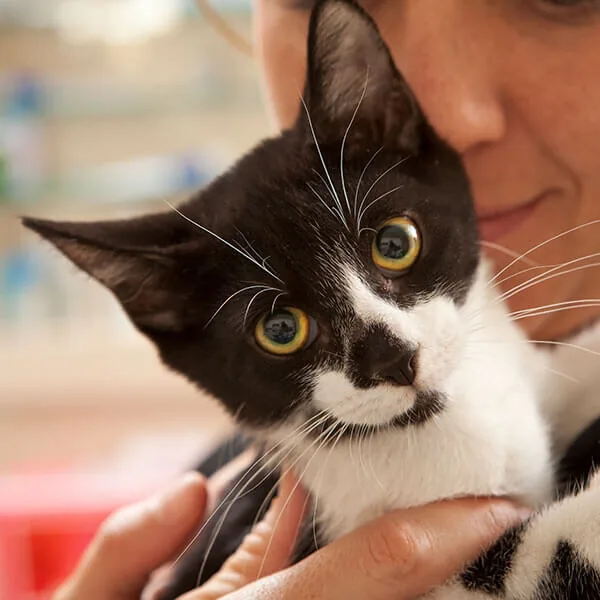
[(141, 330), (184, 327), (187, 234), (175, 213), (121, 221), (23, 224), (51, 242), (80, 269), (106, 286)]

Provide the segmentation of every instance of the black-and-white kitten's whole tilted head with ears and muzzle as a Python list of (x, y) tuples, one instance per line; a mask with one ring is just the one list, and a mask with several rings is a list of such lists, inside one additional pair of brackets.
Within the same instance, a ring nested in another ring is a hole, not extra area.
[(425, 421), (460, 360), (478, 265), (459, 158), (354, 2), (314, 11), (303, 103), (176, 211), (25, 225), (242, 424)]

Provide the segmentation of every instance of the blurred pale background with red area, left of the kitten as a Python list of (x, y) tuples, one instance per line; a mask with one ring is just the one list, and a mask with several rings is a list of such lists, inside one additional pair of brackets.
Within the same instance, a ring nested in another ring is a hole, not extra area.
[[(251, 38), (250, 0), (214, 4)], [(0, 0), (0, 598), (47, 597), (103, 514), (230, 427), (18, 216), (166, 209), (267, 132), (194, 0)]]

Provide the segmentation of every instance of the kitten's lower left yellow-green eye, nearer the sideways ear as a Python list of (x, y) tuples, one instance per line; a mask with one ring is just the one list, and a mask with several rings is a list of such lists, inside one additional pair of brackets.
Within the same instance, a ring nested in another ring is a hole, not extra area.
[(256, 326), (258, 345), (271, 354), (285, 356), (302, 350), (311, 334), (308, 315), (298, 308), (280, 308), (266, 314)]

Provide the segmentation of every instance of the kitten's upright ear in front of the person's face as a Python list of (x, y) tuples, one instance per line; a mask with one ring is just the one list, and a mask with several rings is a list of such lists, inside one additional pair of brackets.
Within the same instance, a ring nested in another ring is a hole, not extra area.
[[(352, 0), (325, 0), (311, 16), (300, 124), (319, 143), (347, 134), (347, 147), (416, 154), (424, 123), (369, 15)], [(350, 126), (350, 124), (352, 125)]]

